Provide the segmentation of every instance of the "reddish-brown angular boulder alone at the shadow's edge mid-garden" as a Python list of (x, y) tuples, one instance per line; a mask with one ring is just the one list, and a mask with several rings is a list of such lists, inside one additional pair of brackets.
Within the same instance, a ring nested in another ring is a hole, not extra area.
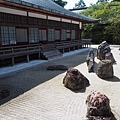
[(65, 87), (71, 90), (79, 90), (89, 85), (89, 80), (77, 69), (70, 68), (63, 78)]

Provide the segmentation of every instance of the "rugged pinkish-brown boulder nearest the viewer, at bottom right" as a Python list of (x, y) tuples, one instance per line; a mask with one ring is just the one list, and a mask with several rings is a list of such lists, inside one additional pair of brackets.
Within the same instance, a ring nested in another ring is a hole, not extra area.
[(89, 120), (115, 120), (109, 98), (100, 92), (91, 92), (86, 99)]

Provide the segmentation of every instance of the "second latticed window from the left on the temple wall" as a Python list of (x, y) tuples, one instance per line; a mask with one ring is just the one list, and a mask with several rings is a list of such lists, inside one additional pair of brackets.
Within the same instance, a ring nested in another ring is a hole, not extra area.
[(29, 28), (29, 38), (30, 42), (39, 42), (39, 30), (38, 28)]

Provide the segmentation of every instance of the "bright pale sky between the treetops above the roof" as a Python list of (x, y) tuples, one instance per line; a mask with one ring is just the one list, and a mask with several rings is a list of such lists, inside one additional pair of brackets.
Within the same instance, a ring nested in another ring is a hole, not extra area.
[[(64, 0), (67, 1), (67, 5), (65, 6), (66, 9), (71, 9), (75, 7), (75, 3), (78, 3), (79, 0)], [(98, 0), (83, 0), (86, 4), (86, 6), (90, 6), (91, 3), (95, 4)]]

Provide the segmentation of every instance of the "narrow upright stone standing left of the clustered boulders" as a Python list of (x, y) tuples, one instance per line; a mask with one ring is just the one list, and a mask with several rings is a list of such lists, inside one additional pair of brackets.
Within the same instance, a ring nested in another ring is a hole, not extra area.
[(90, 49), (86, 58), (88, 72), (94, 72), (94, 58), (95, 58), (95, 55), (94, 55), (93, 49)]

